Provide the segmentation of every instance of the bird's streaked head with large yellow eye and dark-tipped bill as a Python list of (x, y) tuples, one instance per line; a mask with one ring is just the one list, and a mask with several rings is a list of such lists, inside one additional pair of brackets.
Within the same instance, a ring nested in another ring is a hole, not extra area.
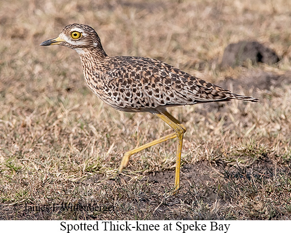
[(40, 45), (48, 46), (53, 44), (75, 49), (78, 54), (85, 53), (86, 48), (102, 48), (100, 38), (95, 30), (88, 25), (78, 23), (67, 25), (58, 37), (46, 40)]

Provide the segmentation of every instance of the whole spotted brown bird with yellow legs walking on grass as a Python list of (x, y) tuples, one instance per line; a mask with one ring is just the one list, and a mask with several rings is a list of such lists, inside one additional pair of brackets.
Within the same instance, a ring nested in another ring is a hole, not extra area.
[(99, 35), (89, 25), (66, 25), (58, 37), (46, 40), (40, 45), (55, 44), (77, 51), (86, 84), (107, 105), (124, 112), (152, 113), (173, 128), (173, 133), (125, 152), (117, 171), (122, 172), (132, 154), (177, 138), (173, 193), (177, 193), (180, 188), (181, 151), (186, 127), (167, 108), (231, 99), (259, 101), (232, 93), (156, 59), (108, 56)]

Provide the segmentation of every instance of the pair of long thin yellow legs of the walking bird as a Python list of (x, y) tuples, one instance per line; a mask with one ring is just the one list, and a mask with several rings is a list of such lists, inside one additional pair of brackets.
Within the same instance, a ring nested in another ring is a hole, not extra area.
[(160, 139), (156, 139), (150, 143), (144, 144), (142, 146), (139, 146), (137, 148), (134, 148), (130, 151), (127, 151), (124, 154), (124, 157), (122, 159), (122, 162), (120, 163), (120, 166), (118, 168), (118, 172), (121, 172), (123, 168), (127, 166), (127, 163), (129, 161), (129, 157), (132, 156), (132, 154), (139, 152), (143, 149), (146, 149), (148, 147), (151, 147), (153, 145), (156, 145), (158, 143), (167, 141), (169, 139), (178, 138), (178, 147), (177, 147), (177, 154), (176, 154), (176, 173), (175, 173), (175, 186), (174, 186), (174, 192), (176, 193), (180, 187), (180, 166), (181, 166), (181, 151), (182, 151), (182, 144), (183, 144), (183, 136), (186, 132), (186, 128), (183, 124), (181, 124), (175, 117), (173, 117), (171, 114), (169, 114), (166, 110), (161, 111), (160, 113), (155, 113), (156, 116), (161, 118), (164, 122), (166, 122), (169, 126), (171, 126), (175, 133), (166, 135), (164, 137), (161, 137)]

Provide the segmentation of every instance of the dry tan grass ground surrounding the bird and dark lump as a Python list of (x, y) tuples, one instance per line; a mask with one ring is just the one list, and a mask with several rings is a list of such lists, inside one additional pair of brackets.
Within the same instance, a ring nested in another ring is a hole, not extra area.
[[(1, 219), (291, 219), (290, 8), (289, 0), (1, 1)], [(175, 140), (135, 154), (112, 179), (126, 150), (171, 129), (104, 105), (75, 51), (38, 46), (73, 22), (95, 28), (109, 55), (157, 58), (261, 101), (170, 109), (187, 127), (177, 196), (164, 195)], [(248, 39), (281, 62), (220, 70), (227, 44)], [(53, 203), (114, 210), (25, 210)]]

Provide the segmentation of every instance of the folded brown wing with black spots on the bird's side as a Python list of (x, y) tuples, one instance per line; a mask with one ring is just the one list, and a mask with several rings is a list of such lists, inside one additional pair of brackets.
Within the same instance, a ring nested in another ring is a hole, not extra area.
[(155, 109), (230, 100), (229, 90), (206, 82), (164, 62), (139, 57), (112, 57), (105, 86), (123, 108)]

